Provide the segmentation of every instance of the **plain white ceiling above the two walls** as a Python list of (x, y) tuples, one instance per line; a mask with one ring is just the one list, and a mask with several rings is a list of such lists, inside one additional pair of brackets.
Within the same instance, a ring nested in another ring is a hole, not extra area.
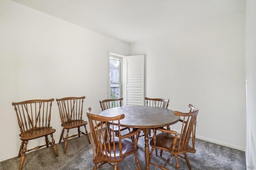
[(245, 11), (246, 0), (12, 0), (134, 43)]

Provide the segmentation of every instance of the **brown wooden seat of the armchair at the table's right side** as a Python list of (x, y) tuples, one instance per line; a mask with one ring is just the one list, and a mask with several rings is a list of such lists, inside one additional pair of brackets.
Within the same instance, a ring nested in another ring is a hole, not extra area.
[[(154, 146), (155, 148), (164, 149), (168, 152), (172, 152), (172, 145), (173, 145), (174, 136), (172, 134), (162, 132), (156, 135), (156, 144), (154, 145), (153, 139), (150, 140), (150, 145)], [(179, 138), (177, 138), (176, 146), (178, 146)], [(178, 147), (175, 147), (174, 152), (178, 152)], [(196, 150), (189, 145), (187, 146), (186, 150), (184, 152), (192, 152), (195, 153)]]

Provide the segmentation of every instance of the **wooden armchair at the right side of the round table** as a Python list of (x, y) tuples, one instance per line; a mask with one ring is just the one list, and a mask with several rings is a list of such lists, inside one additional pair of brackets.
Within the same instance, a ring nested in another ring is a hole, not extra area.
[[(154, 136), (153, 140), (150, 140), (150, 145), (152, 146), (152, 150), (150, 152), (150, 158), (152, 158), (152, 152), (155, 148), (166, 150), (171, 153), (171, 156), (166, 160), (163, 166), (156, 165), (151, 163), (154, 166), (162, 170), (166, 170), (164, 166), (168, 162), (170, 162), (172, 156), (175, 156), (176, 159), (176, 167), (179, 170), (180, 164), (178, 162), (178, 156), (184, 158), (188, 164), (188, 168), (191, 170), (191, 166), (188, 160), (187, 152), (195, 153), (195, 139), (196, 139), (196, 116), (198, 115), (198, 109), (192, 105), (188, 105), (190, 108), (189, 113), (181, 113), (179, 111), (174, 111), (174, 115), (180, 116), (183, 119), (180, 119), (182, 122), (182, 128), (180, 131), (180, 135), (178, 137), (178, 133), (164, 128), (154, 128)], [(156, 129), (162, 131), (162, 133), (156, 135)], [(192, 136), (191, 136), (192, 134)], [(192, 140), (192, 146), (189, 145), (189, 141)], [(182, 156), (181, 154), (184, 154)], [(160, 153), (162, 156), (162, 152)]]

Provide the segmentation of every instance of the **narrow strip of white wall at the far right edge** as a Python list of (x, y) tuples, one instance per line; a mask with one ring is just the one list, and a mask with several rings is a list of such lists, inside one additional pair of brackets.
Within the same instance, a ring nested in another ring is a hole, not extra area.
[(246, 165), (256, 168), (256, 1), (246, 0)]

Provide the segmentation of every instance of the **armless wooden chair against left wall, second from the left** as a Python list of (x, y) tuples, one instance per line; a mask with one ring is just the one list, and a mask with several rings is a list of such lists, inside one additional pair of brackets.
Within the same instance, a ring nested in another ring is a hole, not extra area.
[[(84, 99), (85, 97), (66, 97), (62, 99), (56, 99), (60, 111), (61, 126), (63, 127), (59, 143), (62, 139), (65, 141), (64, 154), (66, 153), (68, 138), (75, 136), (80, 137), (81, 134), (85, 134), (90, 144), (89, 135), (86, 129), (86, 124), (88, 122), (82, 119)], [(80, 131), (81, 126), (84, 126), (85, 133)], [(68, 136), (69, 129), (71, 128), (78, 128), (78, 134)], [(63, 136), (65, 129), (67, 129), (66, 137)]]

